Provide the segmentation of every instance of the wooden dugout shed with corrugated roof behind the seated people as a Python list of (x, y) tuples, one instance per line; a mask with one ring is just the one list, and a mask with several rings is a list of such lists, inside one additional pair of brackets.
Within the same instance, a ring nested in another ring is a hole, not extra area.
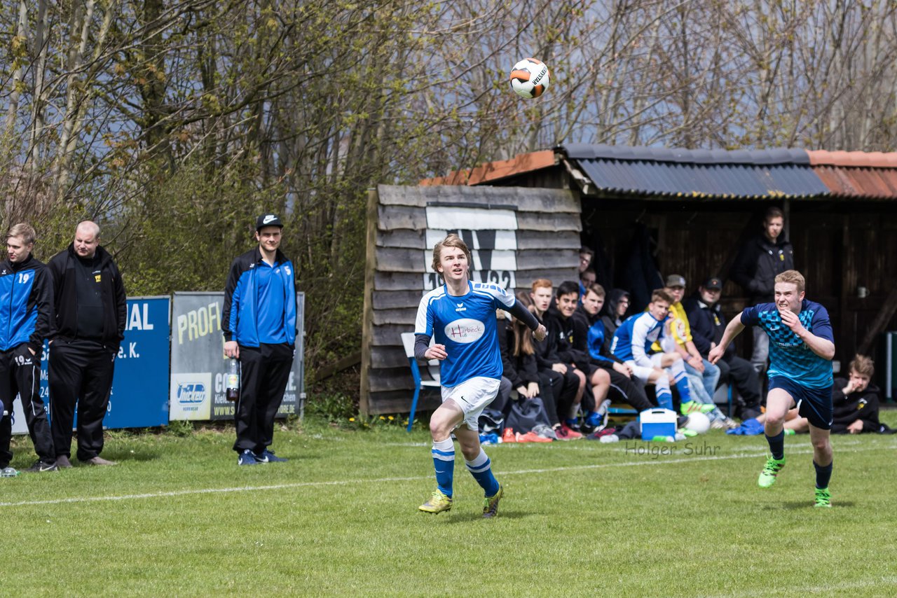
[[(504, 230), (483, 224), (495, 220), (483, 211), (508, 210), (518, 215), (517, 270), (496, 271), (504, 276), (496, 282), (523, 288), (543, 274), (570, 279), (582, 244), (596, 250), (605, 287), (632, 290), (632, 260), (648, 256), (658, 276), (683, 274), (691, 292), (710, 276), (727, 278), (738, 247), (760, 232), (772, 205), (786, 213), (807, 296), (832, 314), (835, 359), (875, 354), (882, 331), (897, 329), (897, 153), (570, 144), (417, 187), (379, 187), (370, 196), (361, 411), (408, 409), (413, 384), (398, 334), (413, 328), (417, 300), (435, 280), (428, 230), (438, 236), (466, 221)], [(448, 206), (478, 212), (440, 223)], [(735, 282), (723, 298), (728, 316), (745, 307)], [(886, 364), (877, 357), (884, 386)]]

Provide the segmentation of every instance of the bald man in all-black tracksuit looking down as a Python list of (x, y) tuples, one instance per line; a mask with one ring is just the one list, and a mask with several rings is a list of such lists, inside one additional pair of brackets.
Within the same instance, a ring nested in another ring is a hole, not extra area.
[(72, 423), (78, 408), (80, 461), (114, 465), (100, 456), (118, 346), (125, 338), (125, 284), (100, 247), (100, 227), (83, 221), (72, 244), (48, 262), (54, 313), (49, 334), (50, 427), (57, 464), (71, 467)]

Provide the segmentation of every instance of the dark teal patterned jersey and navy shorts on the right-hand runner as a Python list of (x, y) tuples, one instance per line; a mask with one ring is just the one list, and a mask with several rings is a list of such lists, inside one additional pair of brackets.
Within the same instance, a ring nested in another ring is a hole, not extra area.
[[(828, 311), (804, 299), (797, 319), (806, 330), (834, 342)], [(746, 308), (744, 325), (759, 326), (770, 337), (770, 390), (782, 388), (797, 403), (798, 413), (816, 428), (832, 428), (832, 361), (816, 355), (793, 330), (782, 322), (775, 303)]]

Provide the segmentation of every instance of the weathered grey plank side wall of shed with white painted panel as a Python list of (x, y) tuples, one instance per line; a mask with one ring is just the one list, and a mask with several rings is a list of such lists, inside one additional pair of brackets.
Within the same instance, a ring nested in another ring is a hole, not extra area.
[[(578, 275), (581, 219), (579, 196), (573, 192), (505, 186), (378, 186), (370, 194), (368, 211), (362, 413), (410, 408), (414, 382), (400, 334), (414, 331), (423, 293), (440, 282), (428, 270), (433, 245), (428, 242), (428, 230), (429, 241), (441, 238), (445, 231), (465, 238), (479, 265), (473, 273), (475, 281), (528, 290), (537, 278), (556, 284), (576, 280)], [(508, 264), (513, 269), (505, 267)], [(435, 408), (439, 401), (435, 393), (422, 399), (422, 410)]]

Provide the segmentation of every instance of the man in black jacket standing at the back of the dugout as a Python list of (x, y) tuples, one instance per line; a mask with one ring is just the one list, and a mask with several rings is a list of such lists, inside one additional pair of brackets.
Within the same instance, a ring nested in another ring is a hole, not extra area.
[[(763, 234), (752, 238), (742, 247), (732, 264), (732, 280), (747, 293), (747, 304), (771, 303), (775, 278), (786, 270), (794, 270), (794, 250), (782, 234), (785, 215), (771, 207), (763, 218)], [(758, 373), (766, 371), (769, 337), (760, 326), (753, 326), (753, 354), (751, 363)]]

